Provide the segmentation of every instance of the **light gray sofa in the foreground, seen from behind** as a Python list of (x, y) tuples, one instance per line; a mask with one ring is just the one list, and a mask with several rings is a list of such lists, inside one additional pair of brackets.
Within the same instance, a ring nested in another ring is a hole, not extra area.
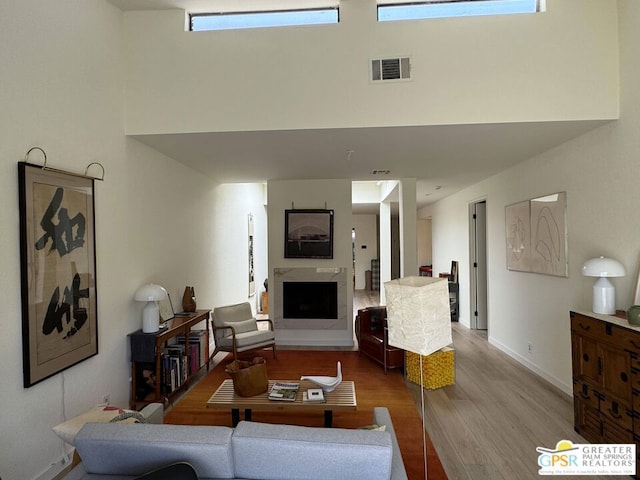
[(240, 422), (221, 426), (88, 423), (75, 438), (82, 462), (66, 480), (133, 480), (188, 462), (202, 480), (405, 480), (389, 411), (385, 431)]

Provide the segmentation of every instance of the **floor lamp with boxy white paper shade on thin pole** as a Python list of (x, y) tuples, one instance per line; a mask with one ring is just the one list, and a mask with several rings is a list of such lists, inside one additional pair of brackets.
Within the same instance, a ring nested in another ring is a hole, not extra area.
[(420, 356), (422, 446), (427, 478), (422, 357), (452, 343), (449, 283), (446, 278), (404, 277), (384, 284), (389, 345)]

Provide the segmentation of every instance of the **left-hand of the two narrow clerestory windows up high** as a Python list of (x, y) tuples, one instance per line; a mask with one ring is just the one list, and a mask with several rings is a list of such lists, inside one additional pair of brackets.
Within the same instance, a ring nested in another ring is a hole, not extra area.
[(198, 32), (293, 25), (322, 25), (338, 22), (339, 10), (336, 5), (307, 10), (194, 13), (190, 15), (190, 30)]

